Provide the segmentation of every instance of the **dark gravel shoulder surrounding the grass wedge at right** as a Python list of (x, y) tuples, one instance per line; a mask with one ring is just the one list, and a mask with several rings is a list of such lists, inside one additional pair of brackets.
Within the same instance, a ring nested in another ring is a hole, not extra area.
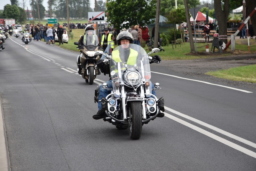
[(169, 70), (174, 72), (182, 73), (194, 78), (256, 90), (256, 83), (232, 81), (205, 74), (208, 71), (228, 69), (231, 67), (239, 67), (252, 64), (256, 64), (256, 54), (234, 55), (229, 57), (210, 57), (194, 60), (163, 60), (160, 65), (167, 67)]

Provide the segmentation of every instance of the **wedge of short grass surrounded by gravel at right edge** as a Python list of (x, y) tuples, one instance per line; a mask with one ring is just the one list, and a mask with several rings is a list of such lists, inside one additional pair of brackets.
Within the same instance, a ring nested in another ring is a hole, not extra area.
[(234, 81), (256, 82), (256, 64), (226, 70), (210, 71), (206, 74)]

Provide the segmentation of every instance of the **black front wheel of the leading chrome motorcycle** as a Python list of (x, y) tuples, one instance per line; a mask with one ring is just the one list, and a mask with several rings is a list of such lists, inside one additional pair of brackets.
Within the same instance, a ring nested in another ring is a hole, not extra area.
[(138, 140), (142, 132), (142, 102), (131, 101), (129, 107), (129, 135), (133, 140)]

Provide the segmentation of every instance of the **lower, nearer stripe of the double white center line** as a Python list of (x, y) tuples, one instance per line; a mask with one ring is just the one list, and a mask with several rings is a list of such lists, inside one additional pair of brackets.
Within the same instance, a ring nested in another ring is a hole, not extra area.
[(206, 135), (206, 136), (208, 136), (208, 137), (210, 137), (210, 138), (212, 138), (214, 140), (217, 140), (217, 141), (219, 141), (219, 142), (221, 142), (221, 143), (223, 143), (223, 144), (225, 144), (227, 146), (230, 146), (233, 149), (236, 149), (236, 150), (238, 150), (238, 151), (240, 151), (242, 153), (245, 153), (245, 154), (247, 154), (247, 155), (249, 155), (249, 156), (251, 156), (253, 158), (256, 158), (256, 153), (251, 151), (251, 150), (245, 149), (242, 146), (239, 146), (239, 145), (237, 145), (235, 143), (232, 143), (232, 142), (230, 142), (228, 140), (225, 140), (224, 138), (221, 138), (221, 137), (219, 137), (219, 136), (217, 136), (215, 134), (212, 134), (212, 133), (210, 133), (208, 131), (205, 131), (202, 128), (199, 128), (199, 127), (197, 127), (195, 125), (192, 125), (192, 124), (190, 124), (190, 123), (188, 123), (186, 121), (183, 121), (183, 120), (181, 120), (179, 118), (176, 118), (175, 116), (172, 116), (172, 115), (170, 115), (168, 113), (164, 112), (164, 114), (165, 114), (166, 117), (168, 117), (168, 118), (170, 118), (170, 119), (172, 119), (172, 120), (174, 120), (176, 122), (179, 122), (182, 125), (185, 125), (185, 126), (191, 128), (191, 129), (193, 129), (193, 130), (195, 130), (197, 132), (200, 132), (201, 134), (204, 134), (204, 135)]

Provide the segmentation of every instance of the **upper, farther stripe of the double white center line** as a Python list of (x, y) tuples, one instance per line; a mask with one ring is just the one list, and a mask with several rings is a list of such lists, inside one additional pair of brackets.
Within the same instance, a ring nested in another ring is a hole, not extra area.
[(166, 107), (166, 106), (165, 106), (164, 108), (165, 108), (166, 110), (172, 112), (172, 113), (175, 113), (176, 115), (179, 115), (179, 116), (181, 116), (181, 117), (183, 117), (183, 118), (186, 118), (186, 119), (188, 119), (188, 120), (190, 120), (190, 121), (196, 122), (196, 123), (198, 123), (198, 124), (200, 124), (200, 125), (203, 125), (203, 126), (205, 126), (205, 127), (207, 127), (207, 128), (210, 128), (210, 129), (212, 129), (212, 130), (214, 130), (214, 131), (216, 131), (216, 132), (218, 132), (218, 133), (221, 133), (221, 134), (223, 134), (223, 135), (225, 135), (225, 136), (227, 136), (227, 137), (233, 138), (233, 139), (235, 139), (235, 140), (237, 140), (237, 141), (240, 141), (240, 142), (245, 143), (245, 144), (247, 144), (247, 145), (249, 145), (249, 146), (251, 146), (251, 147), (256, 148), (256, 144), (253, 143), (253, 142), (251, 142), (251, 141), (245, 140), (245, 139), (243, 139), (243, 138), (241, 138), (241, 137), (238, 137), (238, 136), (236, 136), (236, 135), (234, 135), (234, 134), (231, 134), (231, 133), (229, 133), (229, 132), (227, 132), (227, 131), (224, 131), (224, 130), (219, 129), (219, 128), (215, 127), (215, 126), (209, 125), (209, 124), (207, 124), (207, 123), (205, 123), (205, 122), (203, 122), (203, 121), (200, 121), (200, 120), (198, 120), (198, 119), (195, 119), (195, 118), (192, 118), (192, 117), (190, 117), (190, 116), (187, 116), (187, 115), (185, 115), (185, 114), (183, 114), (183, 113), (180, 113), (180, 112), (178, 112), (178, 111), (176, 111), (176, 110), (173, 110), (173, 109), (171, 109), (171, 108), (169, 108), (169, 107)]

